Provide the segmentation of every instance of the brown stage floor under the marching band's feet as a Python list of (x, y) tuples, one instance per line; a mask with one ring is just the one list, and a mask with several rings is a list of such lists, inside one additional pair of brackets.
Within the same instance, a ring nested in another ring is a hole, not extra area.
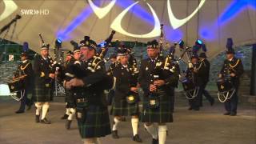
[[(63, 98), (55, 98), (50, 105), (48, 117), (52, 124), (43, 125), (34, 122), (34, 106), (24, 114), (15, 114), (18, 102), (9, 98), (0, 99), (0, 143), (1, 144), (82, 144), (77, 122), (71, 124), (71, 130), (65, 129)], [(255, 106), (238, 106), (238, 116), (224, 116), (224, 107), (215, 102), (209, 106), (204, 102), (200, 111), (187, 110), (186, 101), (178, 100), (175, 106), (174, 122), (168, 124), (166, 144), (255, 144), (256, 112)], [(112, 117), (111, 117), (112, 118)], [(110, 120), (112, 122), (112, 119)], [(132, 129), (130, 118), (118, 126), (118, 140), (108, 135), (101, 138), (102, 144), (131, 144)], [(140, 123), (139, 134), (143, 143), (151, 142), (150, 134)]]

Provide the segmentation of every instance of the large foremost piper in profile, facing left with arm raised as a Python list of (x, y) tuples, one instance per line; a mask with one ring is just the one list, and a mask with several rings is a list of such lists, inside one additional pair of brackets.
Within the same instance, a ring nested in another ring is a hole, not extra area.
[(81, 93), (74, 96), (77, 104), (78, 129), (85, 143), (97, 143), (98, 138), (111, 134), (110, 118), (102, 85), (106, 77), (105, 63), (95, 56), (96, 46), (96, 42), (89, 37), (80, 42), (82, 54), (80, 78), (73, 78), (66, 82), (66, 87), (80, 86), (83, 89)]

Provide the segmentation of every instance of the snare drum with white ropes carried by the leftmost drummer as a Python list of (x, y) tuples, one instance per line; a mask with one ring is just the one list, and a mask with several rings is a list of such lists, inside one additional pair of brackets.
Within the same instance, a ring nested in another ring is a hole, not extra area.
[(10, 96), (16, 101), (20, 101), (24, 97), (26, 76), (24, 74), (8, 82)]

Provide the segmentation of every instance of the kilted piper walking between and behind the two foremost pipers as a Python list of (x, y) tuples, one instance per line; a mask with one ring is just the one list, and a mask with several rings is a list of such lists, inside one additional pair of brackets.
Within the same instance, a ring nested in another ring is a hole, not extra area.
[(126, 50), (118, 51), (119, 63), (114, 68), (114, 77), (116, 78), (116, 87), (114, 91), (114, 101), (110, 114), (114, 116), (112, 137), (118, 136), (118, 123), (124, 116), (131, 116), (131, 126), (133, 129), (133, 140), (142, 142), (138, 136), (138, 87), (137, 87), (137, 69), (133, 65), (128, 64), (128, 56)]

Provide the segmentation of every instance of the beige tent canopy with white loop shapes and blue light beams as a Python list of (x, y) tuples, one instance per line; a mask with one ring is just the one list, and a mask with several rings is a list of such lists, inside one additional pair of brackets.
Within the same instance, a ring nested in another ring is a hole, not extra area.
[(234, 46), (256, 43), (255, 0), (2, 0), (0, 28), (16, 14), (22, 18), (5, 38), (29, 42), (35, 51), (40, 50), (39, 33), (51, 46), (60, 38), (71, 49), (70, 40), (89, 35), (102, 42), (111, 30), (117, 31), (114, 40), (158, 39), (160, 24), (166, 42), (183, 39), (193, 46), (201, 39), (210, 58), (226, 50), (227, 38)]

